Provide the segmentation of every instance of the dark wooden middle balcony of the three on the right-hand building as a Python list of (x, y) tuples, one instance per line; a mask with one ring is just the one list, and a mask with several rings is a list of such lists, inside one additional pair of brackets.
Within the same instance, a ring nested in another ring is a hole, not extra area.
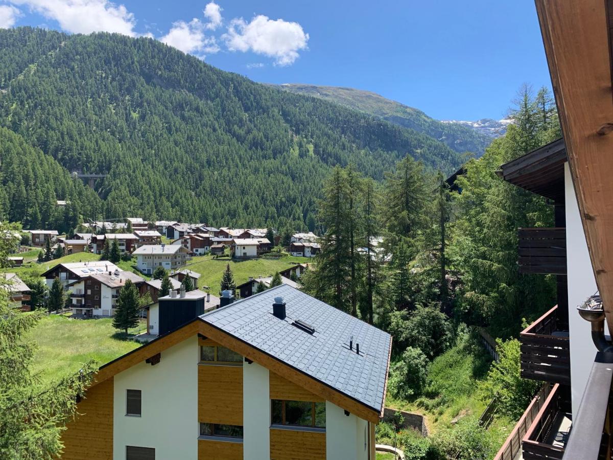
[(521, 332), (522, 377), (570, 385), (568, 324), (559, 320), (558, 306)]

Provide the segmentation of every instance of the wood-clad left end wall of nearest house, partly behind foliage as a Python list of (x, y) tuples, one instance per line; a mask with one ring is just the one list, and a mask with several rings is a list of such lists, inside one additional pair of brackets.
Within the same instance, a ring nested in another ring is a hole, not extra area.
[(62, 434), (68, 460), (110, 460), (113, 458), (113, 377), (88, 389), (77, 404), (75, 420)]

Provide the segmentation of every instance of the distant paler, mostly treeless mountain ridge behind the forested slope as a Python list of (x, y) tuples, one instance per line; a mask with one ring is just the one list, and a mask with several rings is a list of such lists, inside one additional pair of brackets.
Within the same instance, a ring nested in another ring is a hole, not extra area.
[(285, 84), (278, 87), (291, 93), (308, 94), (316, 98), (337, 102), (337, 104), (345, 105), (351, 109), (383, 118), (383, 120), (390, 121), (395, 125), (424, 132), (460, 153), (470, 151), (476, 153), (477, 156), (481, 156), (485, 147), (490, 145), (493, 139), (492, 136), (485, 132), (476, 131), (471, 126), (435, 120), (419, 109), (386, 99), (371, 91), (340, 88), (338, 86), (302, 85), (300, 83)]

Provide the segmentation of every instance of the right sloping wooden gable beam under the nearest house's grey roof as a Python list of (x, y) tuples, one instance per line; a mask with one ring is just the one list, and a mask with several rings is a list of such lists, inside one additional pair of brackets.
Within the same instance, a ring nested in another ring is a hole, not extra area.
[[(245, 356), (245, 358), (257, 362), (257, 364), (266, 367), (268, 370), (286, 378), (292, 383), (322, 397), (322, 399), (330, 401), (364, 420), (375, 424), (379, 423), (379, 410), (368, 407), (362, 402), (340, 393), (340, 391), (331, 386), (310, 377), (304, 372), (287, 365), (283, 361), (280, 361), (280, 359), (276, 359), (242, 340), (238, 340), (236, 337), (227, 334), (227, 332), (221, 331), (221, 329), (215, 328), (215, 326), (205, 323), (204, 321), (200, 321), (199, 332), (215, 340), (215, 342), (221, 343), (224, 347), (230, 348), (230, 350), (236, 353), (240, 353)], [(249, 366), (249, 364), (245, 364), (245, 366)], [(383, 410), (383, 408), (381, 408), (381, 410)]]

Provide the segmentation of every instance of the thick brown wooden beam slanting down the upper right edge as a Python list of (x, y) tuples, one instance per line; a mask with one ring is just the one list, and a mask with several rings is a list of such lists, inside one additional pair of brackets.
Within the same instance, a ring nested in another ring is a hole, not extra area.
[[(604, 0), (536, 0), (596, 284), (613, 331), (613, 123)], [(603, 132), (607, 131), (607, 134)]]

